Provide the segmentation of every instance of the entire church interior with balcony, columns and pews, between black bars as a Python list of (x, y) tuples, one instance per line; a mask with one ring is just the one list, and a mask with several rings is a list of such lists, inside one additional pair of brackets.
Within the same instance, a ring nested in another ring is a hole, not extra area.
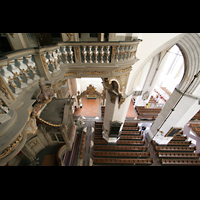
[(0, 166), (200, 166), (200, 33), (0, 33)]

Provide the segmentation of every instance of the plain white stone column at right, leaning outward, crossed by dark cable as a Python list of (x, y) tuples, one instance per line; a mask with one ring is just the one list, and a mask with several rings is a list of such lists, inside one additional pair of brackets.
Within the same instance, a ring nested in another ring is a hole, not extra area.
[[(184, 94), (175, 88), (164, 108), (151, 126), (147, 138), (153, 138), (158, 144), (167, 144), (173, 135), (167, 136), (171, 128), (183, 128), (200, 110), (199, 99)], [(155, 137), (153, 137), (155, 135)]]

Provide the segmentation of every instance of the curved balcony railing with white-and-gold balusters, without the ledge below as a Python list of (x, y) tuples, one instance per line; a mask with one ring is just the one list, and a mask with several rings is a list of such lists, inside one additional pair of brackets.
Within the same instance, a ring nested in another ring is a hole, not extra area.
[(11, 52), (0, 58), (1, 74), (17, 97), (40, 77), (48, 79), (62, 67), (108, 67), (135, 60), (140, 40), (133, 42), (63, 42)]

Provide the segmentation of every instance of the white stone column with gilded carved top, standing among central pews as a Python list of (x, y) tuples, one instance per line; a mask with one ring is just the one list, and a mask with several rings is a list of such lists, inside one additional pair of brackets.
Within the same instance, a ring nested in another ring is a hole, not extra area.
[(124, 94), (128, 75), (112, 78), (110, 81), (103, 80), (107, 92), (102, 134), (109, 143), (116, 143), (119, 139), (130, 105), (131, 95), (126, 97)]

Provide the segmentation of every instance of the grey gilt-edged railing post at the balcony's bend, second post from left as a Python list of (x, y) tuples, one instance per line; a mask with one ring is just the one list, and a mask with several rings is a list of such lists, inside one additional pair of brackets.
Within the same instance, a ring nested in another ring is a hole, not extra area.
[(45, 77), (45, 79), (49, 80), (51, 78), (51, 74), (49, 72), (48, 66), (46, 65), (46, 62), (44, 63), (41, 53), (39, 52), (39, 49), (36, 50), (36, 53), (34, 54), (35, 61), (37, 63), (38, 69), (40, 71), (41, 77)]

